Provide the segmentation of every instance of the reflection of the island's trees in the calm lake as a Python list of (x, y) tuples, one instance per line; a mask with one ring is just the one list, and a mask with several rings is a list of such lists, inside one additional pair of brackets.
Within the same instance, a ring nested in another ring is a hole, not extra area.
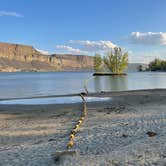
[(94, 78), (95, 91), (126, 90), (127, 76), (96, 76)]

